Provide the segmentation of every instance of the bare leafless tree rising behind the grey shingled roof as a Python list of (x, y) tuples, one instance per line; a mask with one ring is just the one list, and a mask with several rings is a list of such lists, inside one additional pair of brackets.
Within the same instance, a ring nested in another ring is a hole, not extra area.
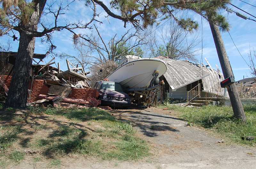
[[(152, 28), (150, 30), (152, 31)], [(195, 56), (200, 41), (198, 33), (195, 35), (192, 33), (181, 28), (174, 19), (170, 19), (169, 24), (162, 25), (159, 32), (152, 33), (152, 36), (148, 37), (149, 56), (196, 61)], [(188, 35), (190, 35), (189, 39)]]

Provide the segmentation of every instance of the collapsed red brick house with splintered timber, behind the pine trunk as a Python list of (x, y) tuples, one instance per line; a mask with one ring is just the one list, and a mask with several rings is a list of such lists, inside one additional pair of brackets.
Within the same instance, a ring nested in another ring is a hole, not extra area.
[[(5, 63), (6, 72), (1, 77), (3, 84), (1, 85), (0, 98), (3, 101), (4, 97), (8, 95), (8, 88), (10, 87), (13, 71), (15, 71), (17, 53), (0, 53), (7, 58)], [(62, 102), (88, 104), (90, 99), (98, 97), (97, 90), (91, 88), (88, 83), (90, 79), (86, 75), (90, 72), (84, 72), (83, 68), (75, 67), (68, 60), (66, 60), (68, 70), (61, 71), (59, 63), (58, 67), (52, 66), (55, 64), (54, 58), (48, 63), (42, 64), (44, 58), (44, 54), (34, 54), (33, 56), (33, 62), (36, 64), (32, 64), (29, 74), (28, 103), (38, 102), (38, 100), (44, 102), (61, 99)]]

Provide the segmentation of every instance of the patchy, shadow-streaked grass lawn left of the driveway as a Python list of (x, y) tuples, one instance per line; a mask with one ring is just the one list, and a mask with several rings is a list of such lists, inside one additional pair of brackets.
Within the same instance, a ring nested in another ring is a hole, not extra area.
[[(0, 115), (0, 118), (24, 121), (28, 127), (27, 130), (22, 125), (0, 127), (0, 152), (11, 161), (22, 161), (26, 147), (42, 155), (32, 158), (33, 162), (49, 159), (49, 167), (58, 167), (60, 159), (72, 154), (117, 160), (137, 160), (150, 155), (148, 143), (135, 136), (131, 123), (117, 120), (104, 110), (29, 108), (27, 114), (26, 121), (14, 113)], [(63, 117), (68, 120), (62, 122)], [(20, 146), (16, 149), (19, 151), (13, 150), (13, 143)], [(0, 165), (4, 166), (1, 160)]]

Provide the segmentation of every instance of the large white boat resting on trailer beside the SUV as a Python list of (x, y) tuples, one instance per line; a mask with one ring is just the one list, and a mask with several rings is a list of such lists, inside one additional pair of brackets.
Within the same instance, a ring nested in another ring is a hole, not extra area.
[(148, 88), (157, 72), (157, 78), (166, 70), (166, 64), (160, 59), (144, 59), (127, 55), (119, 60), (120, 66), (110, 74), (109, 81), (118, 82), (123, 89)]

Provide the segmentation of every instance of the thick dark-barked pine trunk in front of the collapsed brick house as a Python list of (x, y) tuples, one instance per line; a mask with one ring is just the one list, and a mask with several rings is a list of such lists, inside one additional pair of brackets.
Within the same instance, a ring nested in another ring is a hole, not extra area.
[(35, 4), (34, 12), (30, 16), (28, 23), (21, 20), (19, 29), (20, 43), (15, 62), (11, 86), (4, 107), (25, 108), (28, 98), (28, 82), (30, 69), (35, 50), (35, 37), (30, 36), (26, 29), (37, 31), (37, 25), (46, 4), (46, 0), (32, 0)]

